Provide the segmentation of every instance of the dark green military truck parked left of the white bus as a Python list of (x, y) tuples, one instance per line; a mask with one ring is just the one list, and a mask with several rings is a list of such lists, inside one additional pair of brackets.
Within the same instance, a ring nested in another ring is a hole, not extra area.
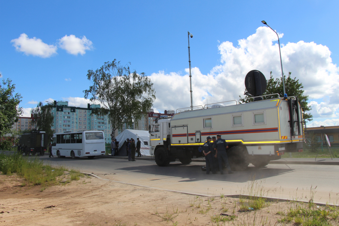
[(29, 154), (43, 156), (47, 151), (47, 134), (44, 131), (37, 130), (22, 134), (19, 137), (19, 145), (25, 156), (29, 156)]

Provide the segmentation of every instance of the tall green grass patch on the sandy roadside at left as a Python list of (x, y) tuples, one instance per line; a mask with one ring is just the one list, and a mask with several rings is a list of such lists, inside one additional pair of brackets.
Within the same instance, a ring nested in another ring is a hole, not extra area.
[[(44, 190), (48, 186), (58, 184), (58, 177), (64, 174), (66, 169), (62, 166), (51, 166), (49, 164), (43, 164), (43, 161), (39, 158), (27, 158), (19, 154), (5, 155), (0, 154), (0, 171), (3, 174), (11, 175), (17, 173), (18, 176), (25, 178), (26, 182), (21, 186), (41, 185)], [(83, 174), (76, 170), (71, 170), (68, 176), (68, 180), (79, 180), (83, 177)], [(42, 191), (43, 191), (42, 190)]]

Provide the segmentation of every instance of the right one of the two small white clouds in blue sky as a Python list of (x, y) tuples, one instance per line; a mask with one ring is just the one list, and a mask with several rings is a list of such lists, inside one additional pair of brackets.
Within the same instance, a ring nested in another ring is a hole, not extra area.
[(65, 49), (67, 53), (73, 55), (84, 55), (86, 53), (86, 50), (93, 49), (93, 43), (85, 36), (81, 37), (80, 39), (75, 37), (75, 35), (65, 35), (58, 41), (60, 48)]

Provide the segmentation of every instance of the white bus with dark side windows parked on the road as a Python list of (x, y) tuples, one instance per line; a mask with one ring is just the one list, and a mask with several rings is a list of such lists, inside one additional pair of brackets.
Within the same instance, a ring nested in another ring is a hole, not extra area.
[(66, 156), (76, 159), (105, 155), (105, 139), (102, 131), (79, 131), (55, 133), (53, 135), (52, 153), (58, 158)]

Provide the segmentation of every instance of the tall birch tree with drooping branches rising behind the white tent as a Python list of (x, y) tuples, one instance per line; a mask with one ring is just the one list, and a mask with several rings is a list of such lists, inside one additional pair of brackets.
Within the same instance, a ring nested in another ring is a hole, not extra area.
[(128, 65), (122, 66), (116, 59), (95, 71), (88, 70), (87, 79), (92, 85), (83, 91), (84, 97), (101, 103), (102, 107), (94, 113), (108, 115), (113, 137), (116, 129), (122, 130), (124, 123), (133, 126), (133, 121), (140, 120), (153, 106), (155, 91), (151, 79), (144, 73), (131, 73)]

